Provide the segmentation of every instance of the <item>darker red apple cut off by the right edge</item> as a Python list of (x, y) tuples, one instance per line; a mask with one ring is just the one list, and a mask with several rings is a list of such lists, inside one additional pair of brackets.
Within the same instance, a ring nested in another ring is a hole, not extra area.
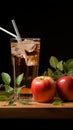
[(73, 100), (73, 76), (60, 77), (57, 80), (57, 92), (62, 100)]

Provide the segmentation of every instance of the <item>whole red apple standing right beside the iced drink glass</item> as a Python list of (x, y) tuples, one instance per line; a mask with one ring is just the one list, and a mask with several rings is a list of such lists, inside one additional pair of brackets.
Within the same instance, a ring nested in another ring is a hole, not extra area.
[(48, 76), (38, 76), (31, 83), (31, 91), (35, 101), (50, 102), (56, 92), (56, 83)]

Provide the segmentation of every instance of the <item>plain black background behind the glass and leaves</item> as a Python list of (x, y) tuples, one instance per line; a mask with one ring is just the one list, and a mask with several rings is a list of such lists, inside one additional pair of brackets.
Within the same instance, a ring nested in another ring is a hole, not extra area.
[[(1, 6), (0, 27), (15, 33), (11, 23), (15, 19), (21, 37), (41, 38), (39, 75), (47, 70), (51, 55), (59, 60), (73, 57), (73, 11), (66, 3), (4, 2)], [(11, 73), (10, 37), (0, 30), (0, 73)]]

